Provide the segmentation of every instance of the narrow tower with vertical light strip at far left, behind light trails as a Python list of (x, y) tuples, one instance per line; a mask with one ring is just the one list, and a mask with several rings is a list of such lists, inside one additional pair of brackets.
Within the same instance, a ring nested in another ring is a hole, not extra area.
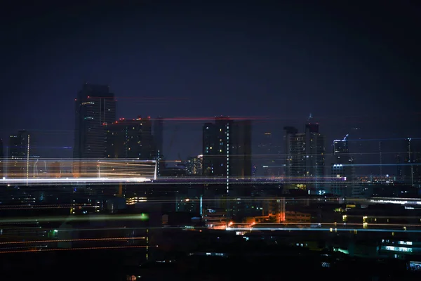
[(23, 130), (9, 138), (7, 177), (29, 178), (31, 135)]

